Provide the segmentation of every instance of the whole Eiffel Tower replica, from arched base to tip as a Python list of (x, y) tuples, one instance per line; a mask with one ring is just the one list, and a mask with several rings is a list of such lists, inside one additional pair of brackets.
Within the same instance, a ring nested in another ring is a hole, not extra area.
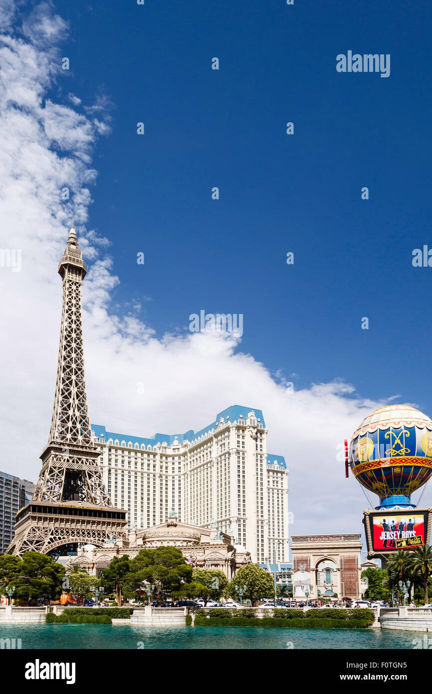
[(112, 543), (114, 536), (128, 544), (126, 511), (114, 509), (107, 496), (90, 430), (81, 307), (87, 266), (74, 221), (58, 273), (63, 308), (53, 418), (33, 498), (18, 512), (15, 538), (7, 550), (17, 556), (32, 550), (66, 555), (80, 544)]

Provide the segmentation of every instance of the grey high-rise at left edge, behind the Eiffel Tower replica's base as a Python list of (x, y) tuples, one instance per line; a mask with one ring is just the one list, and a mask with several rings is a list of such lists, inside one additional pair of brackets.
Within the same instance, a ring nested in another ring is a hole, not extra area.
[(0, 554), (12, 542), (15, 516), (31, 500), (33, 491), (33, 482), (0, 472)]

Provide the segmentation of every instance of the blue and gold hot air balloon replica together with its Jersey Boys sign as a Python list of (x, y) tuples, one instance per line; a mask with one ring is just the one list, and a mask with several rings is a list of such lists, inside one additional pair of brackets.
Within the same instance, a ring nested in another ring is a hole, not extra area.
[(368, 557), (429, 544), (431, 508), (417, 508), (411, 494), (432, 475), (432, 420), (409, 405), (369, 414), (345, 442), (346, 474), (379, 496), (364, 511)]

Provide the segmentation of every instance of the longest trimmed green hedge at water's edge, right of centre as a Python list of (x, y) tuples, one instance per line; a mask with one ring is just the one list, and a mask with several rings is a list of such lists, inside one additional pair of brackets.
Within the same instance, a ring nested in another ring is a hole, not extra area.
[(368, 619), (284, 619), (278, 617), (232, 617), (223, 619), (220, 617), (195, 618), (196, 627), (304, 627), (306, 629), (365, 629), (370, 626)]

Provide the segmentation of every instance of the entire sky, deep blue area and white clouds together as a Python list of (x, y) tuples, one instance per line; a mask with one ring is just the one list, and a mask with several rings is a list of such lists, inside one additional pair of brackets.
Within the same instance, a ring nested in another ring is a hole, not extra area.
[[(293, 534), (358, 532), (365, 498), (338, 446), (390, 398), (432, 415), (432, 268), (412, 265), (414, 248), (432, 248), (431, 14), (0, 0), (0, 245), (23, 254), (20, 273), (0, 273), (7, 472), (39, 473), (75, 214), (92, 421), (150, 437), (200, 430), (230, 405), (262, 409), (268, 450), (290, 469)], [(389, 53), (390, 76), (338, 73), (349, 50)], [(191, 335), (200, 310), (243, 314), (241, 341)]]

